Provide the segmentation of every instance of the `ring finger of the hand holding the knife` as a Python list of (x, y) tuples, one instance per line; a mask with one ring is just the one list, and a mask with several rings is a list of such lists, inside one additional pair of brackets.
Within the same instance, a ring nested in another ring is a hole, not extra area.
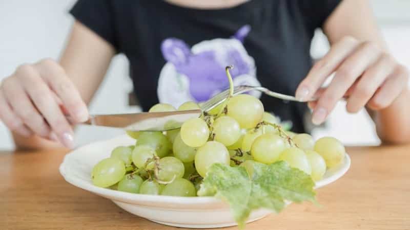
[[(22, 70), (24, 68), (25, 70)], [(30, 75), (30, 67), (20, 67), (19, 72), (26, 72), (24, 76)], [(47, 137), (50, 128), (45, 122), (43, 116), (39, 114), (23, 87), (16, 81), (10, 80), (3, 83), (3, 92), (5, 99), (16, 113), (17, 117), (22, 120), (34, 133), (39, 136)]]

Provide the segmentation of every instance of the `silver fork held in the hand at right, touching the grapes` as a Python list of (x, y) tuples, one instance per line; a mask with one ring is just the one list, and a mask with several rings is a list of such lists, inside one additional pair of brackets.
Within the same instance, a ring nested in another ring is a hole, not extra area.
[[(309, 102), (309, 101), (316, 101), (316, 98), (311, 98), (310, 100), (303, 100), (300, 101), (296, 99), (293, 96), (285, 95), (285, 94), (280, 94), (276, 93), (272, 90), (269, 90), (268, 88), (262, 87), (262, 86), (249, 86), (249, 85), (239, 85), (234, 87), (234, 93), (233, 95), (238, 95), (238, 94), (243, 94), (247, 93), (252, 90), (258, 90), (261, 91), (262, 93), (269, 95), (274, 98), (279, 98), (283, 99), (286, 101), (296, 101), (296, 102)], [(209, 110), (215, 108), (216, 106), (220, 105), (222, 102), (224, 102), (229, 96), (229, 89), (222, 91), (221, 93), (215, 95), (212, 97), (210, 100), (204, 102), (200, 107), (202, 111), (208, 112)]]

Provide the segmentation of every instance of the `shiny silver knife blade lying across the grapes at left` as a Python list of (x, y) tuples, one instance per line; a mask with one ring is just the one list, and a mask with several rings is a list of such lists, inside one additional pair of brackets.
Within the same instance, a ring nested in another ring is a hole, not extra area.
[(201, 114), (202, 110), (200, 109), (170, 112), (95, 114), (91, 115), (82, 124), (122, 128), (129, 131), (167, 131), (180, 128), (183, 122), (191, 118), (199, 118)]

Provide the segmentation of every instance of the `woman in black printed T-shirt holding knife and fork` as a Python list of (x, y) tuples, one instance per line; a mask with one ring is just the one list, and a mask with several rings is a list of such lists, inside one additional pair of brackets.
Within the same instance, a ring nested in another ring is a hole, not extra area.
[[(71, 13), (76, 21), (60, 60), (21, 65), (0, 87), (0, 118), (17, 148), (72, 147), (64, 115), (87, 120), (87, 104), (117, 53), (130, 60), (144, 110), (158, 100), (207, 100), (227, 86), (223, 67), (234, 64), (236, 84), (318, 97), (309, 103), (315, 124), (345, 97), (347, 111), (368, 110), (384, 142), (410, 142), (408, 71), (389, 55), (368, 1), (79, 0)], [(332, 46), (312, 67), (316, 28)], [(261, 101), (304, 131), (304, 103)]]

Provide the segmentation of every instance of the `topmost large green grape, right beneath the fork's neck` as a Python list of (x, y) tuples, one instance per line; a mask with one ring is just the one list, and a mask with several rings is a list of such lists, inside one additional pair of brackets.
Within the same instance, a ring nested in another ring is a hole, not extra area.
[(229, 99), (227, 115), (235, 119), (241, 128), (254, 128), (262, 121), (263, 105), (251, 95), (236, 95)]

